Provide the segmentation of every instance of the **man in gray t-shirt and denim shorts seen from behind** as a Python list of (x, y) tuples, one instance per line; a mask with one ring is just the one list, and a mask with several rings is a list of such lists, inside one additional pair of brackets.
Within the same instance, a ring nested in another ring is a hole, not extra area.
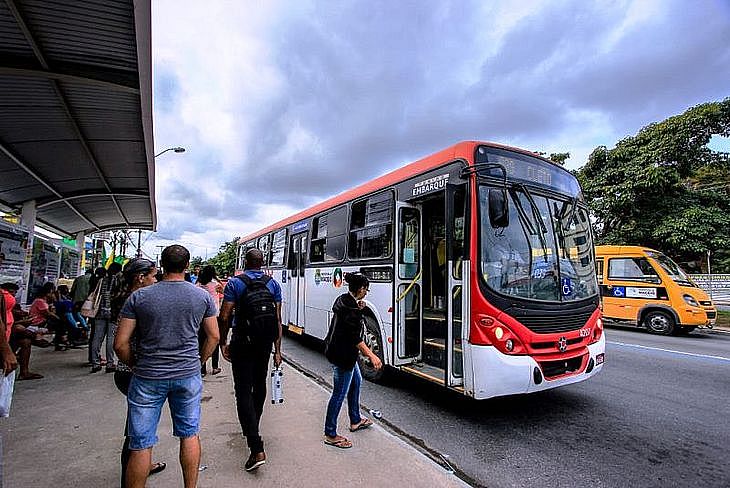
[[(185, 281), (190, 253), (173, 245), (162, 251), (161, 282), (141, 288), (127, 299), (119, 314), (114, 349), (132, 367), (127, 396), (129, 486), (144, 486), (157, 442), (157, 425), (169, 401), (173, 434), (180, 438), (180, 463), (185, 487), (194, 487), (200, 464), (201, 361), (213, 353), (219, 339), (216, 305), (210, 294)], [(198, 353), (198, 329), (206, 341)], [(135, 341), (132, 353), (130, 342)]]

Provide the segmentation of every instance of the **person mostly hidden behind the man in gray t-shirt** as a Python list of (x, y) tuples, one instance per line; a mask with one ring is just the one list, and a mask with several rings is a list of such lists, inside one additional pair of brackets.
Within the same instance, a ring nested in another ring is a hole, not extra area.
[[(112, 296), (112, 322), (119, 323), (119, 313), (127, 301), (127, 298), (145, 286), (153, 285), (157, 283), (155, 275), (157, 274), (157, 268), (155, 263), (145, 258), (131, 259), (127, 264), (124, 265), (122, 270), (122, 282), (117, 293)], [(134, 337), (130, 340), (130, 348), (132, 354), (134, 354)], [(117, 389), (121, 391), (124, 396), (127, 396), (129, 392), (129, 383), (132, 381), (132, 368), (127, 366), (123, 361), (117, 361), (117, 370), (114, 372), (114, 384), (117, 385)], [(120, 486), (124, 488), (127, 484), (127, 464), (129, 463), (129, 455), (131, 453), (129, 449), (129, 428), (127, 424), (129, 418), (124, 421), (124, 445), (122, 446), (121, 464), (122, 464), (122, 476)], [(150, 465), (150, 474), (156, 474), (167, 467), (165, 463), (152, 463)]]

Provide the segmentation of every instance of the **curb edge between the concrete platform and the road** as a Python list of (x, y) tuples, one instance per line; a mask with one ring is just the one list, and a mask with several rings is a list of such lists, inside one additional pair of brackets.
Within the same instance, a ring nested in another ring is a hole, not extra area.
[[(322, 388), (324, 388), (327, 391), (332, 391), (332, 384), (330, 384), (326, 379), (319, 376), (317, 373), (307, 369), (304, 367), (301, 363), (296, 362), (295, 360), (291, 359), (285, 354), (282, 354), (282, 359), (284, 362), (286, 362), (289, 366), (294, 368), (295, 370), (302, 373), (305, 377), (309, 378)], [(371, 412), (371, 409), (363, 402), (360, 402), (360, 409)], [(372, 415), (372, 417), (375, 417), (375, 415)], [(423, 439), (419, 439), (417, 437), (412, 436), (411, 434), (407, 433), (400, 427), (398, 427), (396, 424), (390, 422), (386, 418), (380, 416), (373, 418), (373, 421), (376, 421), (380, 426), (388, 432), (390, 435), (400, 439), (401, 441), (405, 442), (412, 448), (414, 448), (416, 451), (418, 451), (423, 456), (427, 457), (431, 461), (433, 461), (438, 466), (442, 467), (444, 471), (446, 471), (448, 474), (453, 474), (457, 478), (459, 478), (461, 481), (466, 483), (468, 486), (474, 487), (474, 488), (486, 488), (485, 485), (480, 484), (477, 480), (473, 479), (471, 476), (463, 472), (461, 469), (459, 469), (458, 466), (455, 466), (451, 462), (448, 461), (447, 457), (437, 451), (436, 449), (428, 446)]]

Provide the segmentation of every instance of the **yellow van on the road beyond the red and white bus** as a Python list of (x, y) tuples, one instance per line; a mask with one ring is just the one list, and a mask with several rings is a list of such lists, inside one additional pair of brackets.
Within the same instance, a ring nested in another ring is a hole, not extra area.
[(654, 334), (712, 328), (717, 310), (703, 290), (659, 251), (641, 246), (596, 247), (603, 318)]

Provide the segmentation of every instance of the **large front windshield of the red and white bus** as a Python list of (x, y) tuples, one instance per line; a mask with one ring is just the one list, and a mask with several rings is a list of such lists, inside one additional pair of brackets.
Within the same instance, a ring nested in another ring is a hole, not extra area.
[[(492, 187), (493, 188), (493, 187)], [(481, 270), (493, 290), (519, 298), (566, 302), (598, 293), (588, 212), (575, 197), (509, 191), (509, 224), (489, 222), (490, 186), (481, 185)]]

